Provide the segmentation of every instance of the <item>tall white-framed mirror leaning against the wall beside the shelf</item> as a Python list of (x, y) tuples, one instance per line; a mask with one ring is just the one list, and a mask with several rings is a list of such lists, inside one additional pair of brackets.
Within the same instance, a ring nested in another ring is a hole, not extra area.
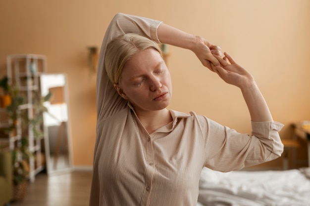
[(48, 112), (43, 115), (45, 153), (48, 174), (71, 169), (68, 88), (65, 74), (41, 74), (42, 96), (51, 92), (44, 102)]

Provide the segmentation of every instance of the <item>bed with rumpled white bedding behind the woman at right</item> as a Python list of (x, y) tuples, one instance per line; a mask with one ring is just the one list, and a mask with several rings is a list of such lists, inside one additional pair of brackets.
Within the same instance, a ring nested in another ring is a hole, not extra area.
[(310, 167), (227, 173), (204, 168), (197, 206), (310, 206)]

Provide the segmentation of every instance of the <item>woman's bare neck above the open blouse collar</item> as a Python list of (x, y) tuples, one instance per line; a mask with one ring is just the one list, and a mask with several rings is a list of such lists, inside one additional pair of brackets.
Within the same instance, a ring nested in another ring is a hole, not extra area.
[(171, 114), (167, 109), (151, 112), (139, 112), (136, 114), (149, 134), (152, 134), (158, 128), (167, 125), (172, 121)]

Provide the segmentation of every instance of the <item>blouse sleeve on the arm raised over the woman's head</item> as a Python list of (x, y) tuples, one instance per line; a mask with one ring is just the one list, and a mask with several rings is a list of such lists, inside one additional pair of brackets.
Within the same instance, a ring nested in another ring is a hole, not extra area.
[(109, 81), (104, 67), (105, 48), (109, 41), (120, 35), (135, 33), (158, 41), (156, 30), (161, 21), (118, 13), (111, 20), (101, 46), (97, 72), (97, 118), (98, 121), (112, 116), (126, 106), (127, 101), (122, 99)]

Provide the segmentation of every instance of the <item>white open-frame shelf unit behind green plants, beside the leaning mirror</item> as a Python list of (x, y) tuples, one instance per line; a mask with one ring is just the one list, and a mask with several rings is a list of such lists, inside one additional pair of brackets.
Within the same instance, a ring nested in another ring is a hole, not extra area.
[[(40, 92), (40, 74), (46, 73), (47, 58), (45, 55), (38, 54), (11, 54), (7, 56), (6, 61), (8, 83), (16, 85), (19, 93), (25, 98), (24, 104), (18, 107), (18, 112), (27, 114), (28, 119), (32, 120), (37, 115), (33, 105), (34, 92)], [(30, 181), (34, 181), (36, 174), (44, 169), (42, 161), (44, 138), (35, 138), (31, 123), (28, 124), (26, 131), (21, 129), (21, 123), (18, 123), (16, 127), (19, 134), (17, 138), (12, 138), (10, 141), (20, 140), (23, 136), (27, 136), (29, 151), (34, 154), (29, 160), (29, 178)], [(14, 145), (14, 143), (10, 144)]]

